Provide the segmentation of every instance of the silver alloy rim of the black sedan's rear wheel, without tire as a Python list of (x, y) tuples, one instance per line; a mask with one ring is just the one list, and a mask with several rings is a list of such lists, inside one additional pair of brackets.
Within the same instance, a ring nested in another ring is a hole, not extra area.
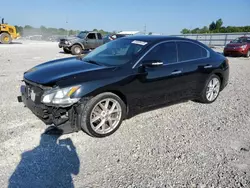
[(206, 91), (206, 98), (208, 101), (214, 101), (220, 92), (220, 80), (213, 78), (209, 81)]

